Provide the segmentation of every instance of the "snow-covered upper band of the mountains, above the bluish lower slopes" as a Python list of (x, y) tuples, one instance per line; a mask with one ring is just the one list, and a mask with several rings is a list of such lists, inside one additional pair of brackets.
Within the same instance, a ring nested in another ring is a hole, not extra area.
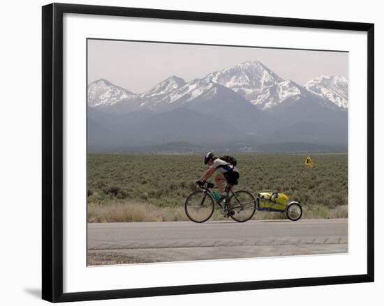
[(172, 75), (140, 94), (100, 79), (89, 84), (88, 105), (108, 112), (133, 112), (139, 109), (163, 112), (195, 100), (215, 88), (215, 84), (234, 91), (268, 112), (303, 99), (317, 101), (330, 109), (348, 107), (348, 80), (344, 77), (316, 77), (305, 86), (300, 86), (290, 79), (282, 79), (259, 61), (239, 63), (189, 83)]

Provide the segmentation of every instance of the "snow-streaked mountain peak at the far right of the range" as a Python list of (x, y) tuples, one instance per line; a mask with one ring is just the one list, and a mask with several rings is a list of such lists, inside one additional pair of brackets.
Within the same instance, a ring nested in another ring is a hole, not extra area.
[(322, 75), (311, 79), (304, 87), (338, 107), (348, 109), (348, 79), (345, 77)]

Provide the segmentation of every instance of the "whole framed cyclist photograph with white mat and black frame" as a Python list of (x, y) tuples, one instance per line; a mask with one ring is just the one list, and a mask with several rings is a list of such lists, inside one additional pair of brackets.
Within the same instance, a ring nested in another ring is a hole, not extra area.
[(43, 6), (43, 299), (374, 282), (374, 24)]

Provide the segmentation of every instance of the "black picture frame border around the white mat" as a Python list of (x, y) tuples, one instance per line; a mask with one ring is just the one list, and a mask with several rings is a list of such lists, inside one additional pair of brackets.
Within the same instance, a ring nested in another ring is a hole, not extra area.
[[(65, 13), (367, 32), (367, 274), (63, 293), (63, 15)], [(42, 25), (42, 297), (44, 300), (56, 303), (374, 282), (374, 24), (52, 3), (43, 6)]]

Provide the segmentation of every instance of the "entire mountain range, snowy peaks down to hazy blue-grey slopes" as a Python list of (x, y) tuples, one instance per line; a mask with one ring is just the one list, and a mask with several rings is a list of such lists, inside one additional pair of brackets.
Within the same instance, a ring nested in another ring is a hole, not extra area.
[(320, 76), (301, 86), (259, 61), (186, 82), (172, 75), (144, 93), (106, 79), (88, 86), (91, 151), (172, 143), (251, 146), (293, 142), (346, 146), (348, 80)]

